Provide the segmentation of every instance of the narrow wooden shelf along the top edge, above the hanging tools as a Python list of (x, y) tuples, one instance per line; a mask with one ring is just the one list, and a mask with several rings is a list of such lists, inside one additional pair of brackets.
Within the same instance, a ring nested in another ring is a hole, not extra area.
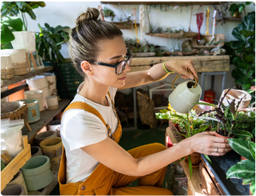
[(221, 0), (101, 0), (101, 4), (166, 4), (166, 5), (218, 5), (221, 4)]

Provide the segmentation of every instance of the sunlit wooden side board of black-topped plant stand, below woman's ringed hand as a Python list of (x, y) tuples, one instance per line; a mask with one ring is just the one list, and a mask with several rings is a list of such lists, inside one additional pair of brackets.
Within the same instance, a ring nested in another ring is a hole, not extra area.
[(205, 189), (206, 192), (208, 192), (208, 195), (221, 196), (216, 185), (213, 183), (213, 180), (211, 179), (202, 163), (200, 163), (199, 166), (199, 175), (202, 181), (202, 189)]

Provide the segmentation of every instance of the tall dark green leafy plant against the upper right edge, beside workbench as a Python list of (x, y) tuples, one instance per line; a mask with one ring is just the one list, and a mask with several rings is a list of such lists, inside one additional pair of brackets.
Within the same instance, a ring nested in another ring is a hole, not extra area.
[(243, 89), (252, 95), (253, 105), (256, 103), (256, 91), (250, 87), (256, 85), (256, 12), (247, 14), (241, 24), (234, 28), (232, 35), (236, 40), (224, 45), (235, 66), (231, 74), (235, 79), (236, 89)]

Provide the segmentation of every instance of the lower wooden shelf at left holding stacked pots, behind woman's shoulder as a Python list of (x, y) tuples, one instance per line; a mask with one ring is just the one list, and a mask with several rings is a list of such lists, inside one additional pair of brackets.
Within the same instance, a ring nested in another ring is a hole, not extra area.
[(22, 129), (22, 135), (27, 135), (27, 139), (30, 143), (31, 140), (35, 137), (35, 135), (48, 123), (50, 123), (51, 120), (53, 120), (54, 116), (56, 116), (61, 110), (63, 110), (68, 104), (70, 100), (69, 99), (62, 99), (59, 102), (59, 109), (58, 110), (44, 110), (40, 112), (40, 120), (35, 123), (30, 124), (30, 128), (32, 131), (28, 131), (27, 128)]

